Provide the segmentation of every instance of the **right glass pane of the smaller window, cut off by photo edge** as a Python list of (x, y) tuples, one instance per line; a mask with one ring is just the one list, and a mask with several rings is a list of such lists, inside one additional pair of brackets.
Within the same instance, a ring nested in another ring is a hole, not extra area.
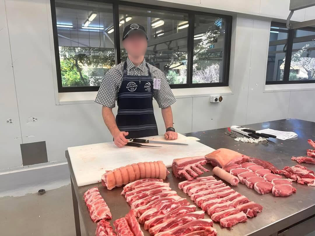
[(315, 28), (296, 30), (289, 80), (315, 80)]

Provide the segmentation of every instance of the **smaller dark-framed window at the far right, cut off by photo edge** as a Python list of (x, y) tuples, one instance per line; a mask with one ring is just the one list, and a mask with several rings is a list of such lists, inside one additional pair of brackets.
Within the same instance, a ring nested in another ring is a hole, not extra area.
[(315, 28), (271, 23), (266, 84), (315, 82)]

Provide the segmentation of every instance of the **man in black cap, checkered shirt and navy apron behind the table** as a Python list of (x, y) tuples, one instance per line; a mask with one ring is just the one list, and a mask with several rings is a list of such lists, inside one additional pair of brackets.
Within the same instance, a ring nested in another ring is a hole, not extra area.
[[(126, 145), (127, 138), (158, 135), (153, 98), (162, 109), (166, 128), (164, 137), (177, 139), (171, 109), (176, 100), (163, 72), (144, 59), (147, 39), (142, 25), (125, 27), (122, 40), (128, 53), (127, 61), (106, 73), (95, 98), (96, 103), (103, 105), (104, 122), (118, 147)], [(115, 107), (116, 99), (118, 112), (115, 120), (112, 108)]]

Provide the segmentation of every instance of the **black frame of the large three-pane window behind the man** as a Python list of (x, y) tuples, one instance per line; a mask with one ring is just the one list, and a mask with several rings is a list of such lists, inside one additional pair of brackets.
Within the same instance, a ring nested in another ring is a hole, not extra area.
[[(187, 83), (186, 84), (170, 84), (169, 86), (174, 88), (198, 88), (198, 87), (223, 87), (229, 84), (229, 71), (230, 71), (230, 54), (231, 54), (231, 38), (232, 38), (232, 16), (223, 14), (214, 14), (202, 11), (192, 11), (182, 8), (170, 8), (164, 6), (156, 6), (144, 3), (133, 3), (126, 1), (115, 1), (115, 0), (86, 0), (91, 2), (101, 2), (112, 4), (113, 9), (113, 25), (114, 25), (114, 52), (115, 52), (115, 63), (118, 65), (121, 62), (120, 57), (120, 34), (119, 34), (119, 5), (133, 6), (140, 8), (151, 8), (154, 10), (166, 10), (178, 13), (188, 14), (188, 30), (187, 30)], [(59, 42), (57, 32), (57, 19), (56, 19), (56, 7), (55, 0), (50, 0), (51, 18), (53, 27), (53, 38), (54, 38), (54, 51), (55, 51), (55, 62), (57, 72), (57, 85), (59, 93), (67, 92), (93, 92), (98, 91), (100, 86), (62, 86), (61, 80), (61, 68), (60, 68), (60, 55), (59, 55)], [(209, 15), (222, 17), (225, 19), (226, 31), (224, 38), (224, 52), (223, 52), (223, 71), (222, 71), (222, 82), (218, 83), (192, 83), (192, 70), (193, 70), (193, 48), (194, 48), (194, 28), (195, 28), (195, 15)]]

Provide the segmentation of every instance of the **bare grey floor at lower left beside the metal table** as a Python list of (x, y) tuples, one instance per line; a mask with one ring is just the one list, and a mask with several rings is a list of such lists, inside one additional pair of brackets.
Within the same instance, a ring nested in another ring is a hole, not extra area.
[[(0, 229), (5, 236), (75, 236), (71, 186), (41, 196), (0, 198)], [(315, 236), (315, 232), (307, 236)]]

